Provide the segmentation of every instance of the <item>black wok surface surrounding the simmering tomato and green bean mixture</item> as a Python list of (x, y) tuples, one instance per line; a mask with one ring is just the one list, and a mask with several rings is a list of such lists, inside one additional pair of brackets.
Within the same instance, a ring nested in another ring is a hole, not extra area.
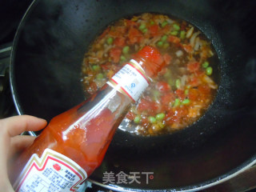
[[(82, 58), (111, 22), (144, 12), (173, 15), (198, 26), (219, 60), (219, 88), (202, 118), (175, 134), (143, 138), (118, 130), (103, 173), (154, 172), (146, 184), (106, 184), (116, 190), (198, 190), (256, 162), (254, 1), (34, 1), (18, 28), (10, 83), (20, 114), (50, 120), (84, 100)], [(101, 184), (102, 185), (102, 184)]]

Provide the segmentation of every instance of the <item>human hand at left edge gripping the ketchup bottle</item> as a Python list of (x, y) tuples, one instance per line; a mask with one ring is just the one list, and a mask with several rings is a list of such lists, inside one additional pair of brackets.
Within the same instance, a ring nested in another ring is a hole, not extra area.
[(9, 178), (7, 162), (14, 154), (20, 153), (30, 146), (35, 137), (19, 135), (24, 131), (38, 131), (46, 126), (46, 120), (29, 115), (20, 115), (0, 119), (0, 189), (5, 192), (14, 192)]

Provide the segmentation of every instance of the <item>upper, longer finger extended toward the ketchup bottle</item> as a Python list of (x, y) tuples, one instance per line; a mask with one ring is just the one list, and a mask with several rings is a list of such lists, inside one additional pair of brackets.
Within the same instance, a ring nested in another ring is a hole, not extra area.
[(20, 115), (0, 120), (0, 130), (9, 134), (9, 137), (14, 137), (24, 131), (42, 130), (46, 124), (45, 119), (35, 118), (30, 115)]

